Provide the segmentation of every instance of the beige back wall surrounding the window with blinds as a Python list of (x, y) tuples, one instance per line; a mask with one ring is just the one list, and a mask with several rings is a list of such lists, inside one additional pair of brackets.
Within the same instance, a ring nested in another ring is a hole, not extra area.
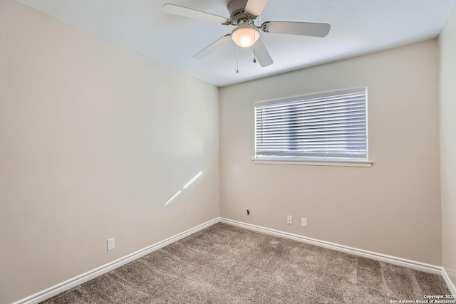
[[(222, 88), (221, 216), (441, 265), (437, 53), (431, 40)], [(252, 163), (254, 102), (364, 85), (371, 168)]]

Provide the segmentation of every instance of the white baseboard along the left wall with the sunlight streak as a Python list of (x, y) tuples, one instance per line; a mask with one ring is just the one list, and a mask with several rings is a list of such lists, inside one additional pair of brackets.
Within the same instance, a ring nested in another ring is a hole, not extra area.
[(13, 304), (36, 304), (40, 303), (43, 300), (47, 300), (48, 298), (52, 298), (54, 295), (58, 295), (59, 293), (62, 293), (65, 290), (71, 289), (73, 287), (76, 287), (77, 285), (81, 285), (82, 283), (85, 283), (87, 281), (92, 280), (93, 278), (96, 278), (98, 276), (101, 276), (105, 273), (108, 273), (109, 271), (113, 271), (115, 268), (118, 268), (120, 266), (125, 265), (126, 263), (130, 263), (131, 261), (135, 261), (138, 258), (141, 258), (142, 256), (146, 256), (149, 253), (152, 253), (153, 251), (156, 251), (162, 247), (165, 247), (167, 245), (170, 245), (171, 243), (174, 243), (175, 241), (179, 241), (180, 239), (184, 239), (187, 236), (190, 236), (192, 234), (195, 234), (197, 231), (200, 231), (202, 229), (205, 229), (209, 226), (212, 226), (214, 224), (217, 224), (220, 221), (219, 218), (217, 219), (212, 219), (211, 221), (207, 221), (204, 224), (198, 225), (192, 229), (189, 229), (187, 231), (184, 231), (180, 234), (176, 234), (175, 236), (171, 236), (168, 239), (165, 239), (163, 241), (160, 241), (158, 243), (155, 243), (151, 246), (148, 246), (146, 248), (142, 248), (138, 251), (135, 251), (133, 253), (130, 253), (128, 256), (123, 256), (122, 258), (118, 258), (115, 261), (112, 261), (110, 263), (107, 263), (103, 266), (100, 266), (98, 268), (95, 268), (91, 271), (88, 271), (86, 273), (83, 273), (79, 276), (76, 276), (74, 278), (71, 278), (65, 282), (62, 282), (60, 284), (54, 285), (51, 288), (48, 288), (46, 290), (42, 290), (38, 293), (35, 293), (34, 295), (30, 295), (27, 298), (24, 298), (22, 300), (16, 301)]

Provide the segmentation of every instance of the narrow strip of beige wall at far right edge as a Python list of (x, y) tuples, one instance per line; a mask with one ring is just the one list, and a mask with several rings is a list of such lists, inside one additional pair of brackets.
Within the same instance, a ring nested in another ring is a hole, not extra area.
[(456, 285), (456, 11), (440, 42), (440, 181), (443, 267)]

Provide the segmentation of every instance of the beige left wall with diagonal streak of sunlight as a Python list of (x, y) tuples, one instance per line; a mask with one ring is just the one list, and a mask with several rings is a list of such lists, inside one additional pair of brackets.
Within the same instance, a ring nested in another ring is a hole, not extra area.
[(213, 85), (0, 0), (0, 303), (219, 216), (218, 117)]

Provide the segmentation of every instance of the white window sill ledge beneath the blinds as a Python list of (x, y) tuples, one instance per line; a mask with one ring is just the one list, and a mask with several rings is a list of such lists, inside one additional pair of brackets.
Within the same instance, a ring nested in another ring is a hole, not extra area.
[(371, 167), (370, 160), (344, 160), (344, 159), (261, 159), (253, 158), (254, 164), (298, 164), (306, 166), (332, 166), (332, 167)]

